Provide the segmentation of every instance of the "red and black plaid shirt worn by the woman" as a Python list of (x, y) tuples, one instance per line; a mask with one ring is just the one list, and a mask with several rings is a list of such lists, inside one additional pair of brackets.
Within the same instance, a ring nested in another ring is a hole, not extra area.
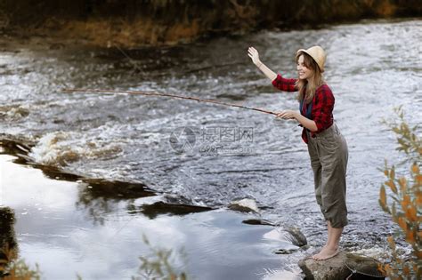
[[(280, 76), (280, 74), (272, 81), (272, 85), (283, 92), (297, 92), (295, 84), (296, 79), (286, 79)], [(300, 112), (303, 116), (306, 116), (307, 105), (308, 104), (304, 103), (304, 108), (302, 108), (302, 112)], [(315, 137), (315, 133), (320, 133), (328, 129), (331, 124), (333, 124), (333, 108), (333, 92), (331, 92), (327, 84), (322, 84), (316, 89), (315, 95), (312, 99), (311, 119), (315, 122), (318, 128), (316, 132), (311, 132), (312, 137)], [(308, 143), (305, 130), (306, 128), (302, 131), (302, 139), (305, 143)]]

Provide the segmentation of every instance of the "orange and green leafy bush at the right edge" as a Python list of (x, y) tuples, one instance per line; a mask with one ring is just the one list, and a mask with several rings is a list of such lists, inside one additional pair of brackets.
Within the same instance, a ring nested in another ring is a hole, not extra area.
[[(406, 175), (398, 175), (395, 167), (388, 166), (385, 162), (384, 173), (386, 180), (380, 188), (379, 204), (382, 209), (389, 213), (394, 222), (399, 226), (398, 235), (403, 236), (410, 245), (410, 256), (404, 259), (396, 250), (394, 236), (388, 236), (387, 241), (392, 251), (390, 264), (384, 265), (381, 270), (391, 279), (418, 279), (422, 278), (422, 174), (420, 163), (422, 158), (422, 140), (418, 137), (418, 126), (410, 128), (404, 119), (402, 108), (396, 108), (395, 112), (400, 118), (399, 124), (389, 124), (393, 132), (397, 134), (399, 151), (406, 155), (406, 162), (410, 169)], [(392, 192), (392, 203), (387, 202), (385, 188)]]

